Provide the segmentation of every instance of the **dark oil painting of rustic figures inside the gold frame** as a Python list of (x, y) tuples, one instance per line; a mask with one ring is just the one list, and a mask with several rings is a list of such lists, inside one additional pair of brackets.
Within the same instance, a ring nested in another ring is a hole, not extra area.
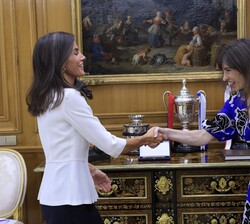
[(237, 0), (81, 0), (90, 75), (215, 71), (237, 38)]

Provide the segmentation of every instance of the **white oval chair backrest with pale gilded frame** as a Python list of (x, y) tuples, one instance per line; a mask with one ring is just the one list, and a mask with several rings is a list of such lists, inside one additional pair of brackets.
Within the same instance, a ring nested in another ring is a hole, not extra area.
[[(22, 221), (18, 209), (24, 201), (27, 188), (27, 170), (21, 154), (0, 148), (0, 218), (11, 217)], [(18, 215), (17, 215), (18, 214)]]

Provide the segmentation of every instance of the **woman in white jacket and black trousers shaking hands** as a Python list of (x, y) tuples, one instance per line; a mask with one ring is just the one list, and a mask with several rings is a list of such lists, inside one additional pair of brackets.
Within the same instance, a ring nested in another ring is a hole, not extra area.
[[(72, 34), (48, 33), (33, 52), (33, 82), (27, 93), (28, 111), (37, 117), (46, 165), (38, 200), (46, 224), (100, 224), (94, 206), (95, 188), (109, 191), (108, 176), (88, 163), (89, 146), (117, 157), (142, 145), (162, 142), (155, 128), (138, 138), (118, 138), (108, 132), (79, 91), (77, 78), (85, 74), (85, 56)], [(91, 94), (90, 94), (91, 95)]]

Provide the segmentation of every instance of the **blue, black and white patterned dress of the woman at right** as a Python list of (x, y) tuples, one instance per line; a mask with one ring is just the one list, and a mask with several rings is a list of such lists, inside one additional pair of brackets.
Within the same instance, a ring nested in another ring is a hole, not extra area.
[[(250, 143), (250, 119), (247, 113), (247, 102), (242, 92), (230, 97), (225, 102), (221, 111), (211, 120), (204, 120), (202, 123), (212, 136), (218, 141), (239, 139), (242, 142)], [(242, 224), (250, 223), (250, 184), (243, 213)]]

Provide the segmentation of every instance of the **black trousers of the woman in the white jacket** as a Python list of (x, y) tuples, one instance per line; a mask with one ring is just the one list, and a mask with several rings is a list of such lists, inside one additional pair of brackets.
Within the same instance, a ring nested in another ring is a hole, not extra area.
[(42, 205), (46, 224), (103, 224), (94, 204), (91, 205)]

